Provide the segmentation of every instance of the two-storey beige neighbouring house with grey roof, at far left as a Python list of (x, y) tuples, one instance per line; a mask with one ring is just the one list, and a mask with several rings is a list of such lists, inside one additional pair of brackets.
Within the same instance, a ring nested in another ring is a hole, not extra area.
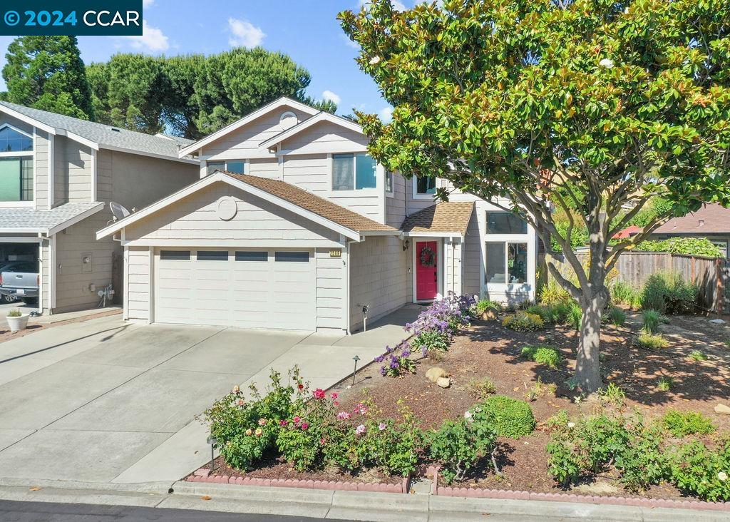
[(0, 264), (38, 264), (39, 310), (99, 304), (121, 253), (96, 241), (107, 202), (142, 208), (189, 185), (199, 173), (180, 157), (189, 143), (0, 101)]

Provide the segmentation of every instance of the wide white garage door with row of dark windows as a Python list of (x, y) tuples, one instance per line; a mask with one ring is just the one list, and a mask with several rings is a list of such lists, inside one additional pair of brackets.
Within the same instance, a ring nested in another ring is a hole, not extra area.
[(312, 250), (155, 253), (155, 322), (315, 330)]

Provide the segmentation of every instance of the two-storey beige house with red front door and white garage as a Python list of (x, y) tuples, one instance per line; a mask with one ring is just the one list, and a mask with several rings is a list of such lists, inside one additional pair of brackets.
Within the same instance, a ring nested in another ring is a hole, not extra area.
[(97, 234), (125, 248), (125, 318), (342, 333), (448, 291), (534, 298), (526, 223), (434, 203), (441, 180), (387, 172), (367, 143), (283, 98), (180, 150), (201, 179)]

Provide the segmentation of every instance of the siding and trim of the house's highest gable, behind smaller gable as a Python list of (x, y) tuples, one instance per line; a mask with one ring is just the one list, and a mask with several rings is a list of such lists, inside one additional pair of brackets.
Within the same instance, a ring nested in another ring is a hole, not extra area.
[(206, 145), (201, 150), (201, 157), (206, 159), (245, 159), (245, 158), (273, 158), (274, 155), (259, 145), (266, 139), (272, 138), (285, 129), (279, 120), (284, 112), (294, 112), (299, 121), (310, 116), (292, 107), (281, 107), (280, 110), (269, 112), (246, 126), (220, 137), (215, 142)]

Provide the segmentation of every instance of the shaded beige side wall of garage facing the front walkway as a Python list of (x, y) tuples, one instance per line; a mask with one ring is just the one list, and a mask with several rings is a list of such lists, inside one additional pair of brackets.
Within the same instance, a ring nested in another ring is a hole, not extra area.
[(369, 237), (350, 246), (350, 327), (361, 329), (362, 305), (378, 318), (412, 301), (410, 250), (398, 237)]

